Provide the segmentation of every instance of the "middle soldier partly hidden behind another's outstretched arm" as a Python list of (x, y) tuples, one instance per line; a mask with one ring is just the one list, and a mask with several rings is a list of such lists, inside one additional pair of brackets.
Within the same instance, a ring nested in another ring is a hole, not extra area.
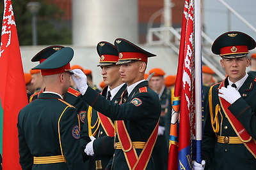
[[(122, 92), (127, 85), (122, 82), (119, 68), (116, 66), (118, 52), (116, 47), (106, 41), (101, 41), (97, 45), (97, 52), (100, 57), (99, 65), (106, 87), (101, 95), (112, 103), (119, 103)], [(99, 114), (99, 115), (98, 115)], [(114, 149), (114, 121), (93, 110), (88, 109), (87, 119), (81, 133), (81, 145), (90, 166), (88, 169), (105, 169), (109, 160), (113, 157)], [(92, 140), (90, 139), (92, 138)]]

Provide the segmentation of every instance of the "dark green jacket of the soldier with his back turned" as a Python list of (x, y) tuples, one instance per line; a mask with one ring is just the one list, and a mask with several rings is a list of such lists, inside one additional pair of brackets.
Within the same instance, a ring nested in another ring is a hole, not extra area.
[[(74, 106), (60, 96), (42, 93), (20, 110), (19, 153), (22, 169), (83, 169), (80, 132)], [(33, 164), (33, 157), (65, 156), (65, 162)]]

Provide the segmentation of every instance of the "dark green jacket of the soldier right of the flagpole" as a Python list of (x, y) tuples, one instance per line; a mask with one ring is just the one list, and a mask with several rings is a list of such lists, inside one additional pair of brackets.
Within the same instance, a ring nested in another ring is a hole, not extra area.
[[(227, 78), (224, 81), (225, 87), (227, 87)], [(215, 115), (216, 110), (220, 109), (220, 112), (218, 113), (218, 127), (220, 130), (216, 133), (213, 131), (211, 117), (209, 115), (209, 105), (207, 105), (208, 107), (205, 108), (205, 127), (202, 143), (203, 159), (207, 160), (207, 167), (211, 164), (211, 169), (256, 169), (256, 159), (243, 143), (228, 144), (217, 142), (216, 135), (237, 137), (236, 132), (232, 128), (230, 122), (228, 122), (228, 119), (225, 117), (225, 113), (223, 113), (223, 109), (221, 108), (218, 97), (219, 86), (220, 83), (214, 85), (212, 88), (212, 113)], [(239, 89), (239, 93), (241, 94), (241, 97), (231, 104), (228, 107), (228, 110), (230, 110), (241, 124), (243, 124), (248, 134), (256, 139), (255, 76), (249, 74), (248, 78), (246, 78), (246, 81), (244, 81)], [(223, 120), (221, 120), (221, 118)]]

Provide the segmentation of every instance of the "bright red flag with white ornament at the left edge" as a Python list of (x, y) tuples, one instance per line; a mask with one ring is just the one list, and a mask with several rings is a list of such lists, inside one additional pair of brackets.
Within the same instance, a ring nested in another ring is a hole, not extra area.
[(28, 99), (11, 0), (4, 0), (0, 73), (0, 110), (3, 110), (0, 111), (0, 117), (3, 118), (3, 124), (1, 124), (3, 127), (3, 169), (17, 170), (21, 169), (17, 120), (19, 111), (28, 104)]

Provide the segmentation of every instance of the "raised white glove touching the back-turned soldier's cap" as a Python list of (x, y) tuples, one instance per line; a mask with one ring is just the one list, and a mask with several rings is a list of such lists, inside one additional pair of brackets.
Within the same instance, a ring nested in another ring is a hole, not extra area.
[(86, 74), (81, 69), (73, 69), (72, 72), (74, 73), (71, 74), (72, 80), (75, 82), (77, 89), (84, 95), (88, 88)]

